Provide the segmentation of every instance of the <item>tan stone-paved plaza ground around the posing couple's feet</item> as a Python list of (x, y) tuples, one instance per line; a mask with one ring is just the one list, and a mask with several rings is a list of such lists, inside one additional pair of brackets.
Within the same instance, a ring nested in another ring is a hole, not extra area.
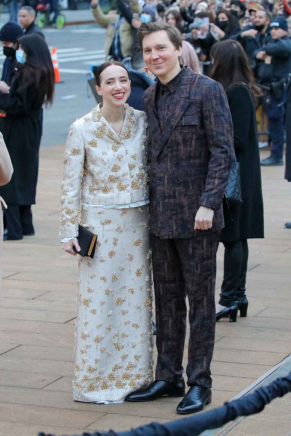
[[(179, 418), (177, 399), (116, 405), (72, 401), (77, 267), (58, 239), (63, 150), (62, 144), (41, 149), (33, 206), (36, 235), (4, 242), (0, 436), (125, 430)], [(291, 230), (284, 228), (291, 220), (291, 184), (284, 181), (284, 167), (262, 168), (262, 178), (266, 238), (249, 244), (248, 317), (217, 324), (208, 407), (222, 405), (291, 353)], [(222, 276), (220, 247), (217, 297)], [(290, 395), (277, 400), (277, 407), (270, 405), (249, 429), (238, 426), (232, 434), (286, 435), (291, 429), (290, 400)]]

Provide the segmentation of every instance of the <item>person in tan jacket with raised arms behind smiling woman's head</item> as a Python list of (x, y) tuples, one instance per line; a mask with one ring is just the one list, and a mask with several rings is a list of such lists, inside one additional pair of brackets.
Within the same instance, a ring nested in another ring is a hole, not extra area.
[[(140, 14), (142, 8), (138, 0), (129, 0), (131, 12)], [(126, 10), (124, 6), (122, 8)], [(104, 44), (105, 59), (112, 56), (114, 61), (121, 62), (124, 58), (131, 56), (134, 29), (127, 17), (123, 14), (103, 14), (98, 0), (91, 1), (91, 10), (95, 20), (102, 27), (107, 27), (106, 39)]]

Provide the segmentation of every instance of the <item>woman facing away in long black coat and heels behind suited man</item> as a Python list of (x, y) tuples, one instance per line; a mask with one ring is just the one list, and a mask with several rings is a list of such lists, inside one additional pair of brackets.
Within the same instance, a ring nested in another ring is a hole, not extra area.
[(233, 40), (221, 41), (211, 50), (211, 78), (219, 82), (227, 95), (233, 121), (234, 151), (240, 163), (241, 204), (229, 202), (225, 227), (220, 241), (225, 247), (224, 274), (216, 321), (230, 316), (236, 321), (237, 311), (246, 317), (247, 240), (264, 238), (263, 196), (256, 109), (253, 99), (261, 94), (255, 85), (246, 54)]

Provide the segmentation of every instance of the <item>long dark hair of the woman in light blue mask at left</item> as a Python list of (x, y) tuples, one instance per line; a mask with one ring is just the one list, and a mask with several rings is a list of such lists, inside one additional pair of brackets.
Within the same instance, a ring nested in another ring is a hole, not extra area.
[(22, 36), (18, 42), (26, 54), (26, 62), (19, 65), (17, 70), (17, 76), (21, 78), (18, 92), (34, 85), (35, 104), (41, 106), (45, 103), (48, 106), (53, 101), (55, 90), (55, 72), (48, 45), (39, 34)]

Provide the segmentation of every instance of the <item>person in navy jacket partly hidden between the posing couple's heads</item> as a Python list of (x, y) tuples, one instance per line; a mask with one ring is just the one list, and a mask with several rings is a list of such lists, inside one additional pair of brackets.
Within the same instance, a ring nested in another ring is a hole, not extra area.
[(130, 79), (130, 96), (127, 103), (134, 109), (144, 110), (144, 91), (154, 83), (154, 74), (149, 71), (144, 63), (143, 54), (139, 46), (134, 48), (130, 59), (131, 68), (128, 71)]

